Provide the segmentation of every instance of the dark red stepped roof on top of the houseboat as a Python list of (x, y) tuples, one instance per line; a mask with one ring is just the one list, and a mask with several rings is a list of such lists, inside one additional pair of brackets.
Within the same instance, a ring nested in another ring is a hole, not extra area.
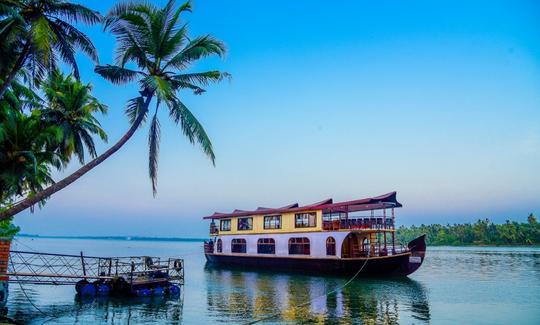
[(378, 210), (385, 208), (400, 208), (401, 203), (397, 201), (397, 193), (390, 192), (376, 197), (358, 199), (352, 201), (333, 203), (332, 199), (327, 199), (321, 202), (312, 203), (304, 206), (299, 206), (298, 203), (286, 205), (281, 208), (257, 208), (254, 211), (234, 210), (231, 213), (214, 212), (211, 216), (203, 219), (221, 219), (231, 217), (242, 217), (260, 214), (278, 214), (284, 212), (300, 212), (307, 210), (324, 210), (324, 212), (355, 212), (366, 210)]

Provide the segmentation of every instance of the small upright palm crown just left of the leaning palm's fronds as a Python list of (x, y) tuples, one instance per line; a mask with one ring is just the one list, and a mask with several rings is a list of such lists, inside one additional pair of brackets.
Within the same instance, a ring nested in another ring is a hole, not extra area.
[(56, 125), (62, 130), (59, 146), (62, 156), (69, 161), (75, 154), (84, 164), (85, 146), (92, 158), (97, 157), (92, 135), (97, 134), (107, 141), (107, 134), (95, 118), (96, 112), (106, 113), (107, 106), (91, 95), (92, 86), (75, 80), (71, 75), (64, 76), (54, 71), (41, 87), (47, 106), (43, 117), (47, 124)]

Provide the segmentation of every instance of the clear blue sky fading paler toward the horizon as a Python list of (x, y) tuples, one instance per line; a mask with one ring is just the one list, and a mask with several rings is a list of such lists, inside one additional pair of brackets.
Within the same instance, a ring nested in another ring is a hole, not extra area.
[[(114, 1), (86, 2), (102, 13)], [(163, 3), (163, 2), (159, 2)], [(23, 233), (204, 237), (214, 211), (398, 192), (399, 224), (523, 221), (540, 215), (538, 1), (204, 1), (191, 36), (228, 47), (190, 71), (230, 81), (181, 93), (216, 166), (160, 116), (158, 195), (148, 126), (113, 157), (18, 215)], [(81, 26), (101, 64), (115, 39)], [(78, 57), (109, 107), (109, 143), (137, 85), (115, 86)], [(78, 167), (73, 163), (56, 179)]]

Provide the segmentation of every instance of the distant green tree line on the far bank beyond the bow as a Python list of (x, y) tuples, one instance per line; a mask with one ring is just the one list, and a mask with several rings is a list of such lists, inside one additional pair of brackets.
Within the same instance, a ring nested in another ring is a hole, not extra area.
[(494, 224), (489, 219), (464, 224), (433, 224), (397, 229), (400, 242), (426, 235), (428, 245), (540, 245), (540, 223), (533, 214), (527, 222), (507, 220)]

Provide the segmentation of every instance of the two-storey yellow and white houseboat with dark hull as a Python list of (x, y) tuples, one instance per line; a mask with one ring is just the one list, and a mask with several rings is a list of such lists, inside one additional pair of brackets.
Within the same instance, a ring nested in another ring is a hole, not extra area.
[(424, 261), (425, 236), (396, 243), (396, 192), (334, 203), (214, 213), (210, 265), (317, 274), (409, 275)]

